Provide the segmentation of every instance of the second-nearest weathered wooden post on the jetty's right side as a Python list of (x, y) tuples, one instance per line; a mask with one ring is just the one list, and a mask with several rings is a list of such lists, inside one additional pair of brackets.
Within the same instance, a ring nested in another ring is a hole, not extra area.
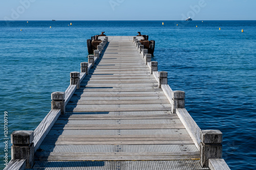
[(185, 92), (173, 91), (172, 93), (172, 112), (176, 114), (177, 108), (185, 108)]

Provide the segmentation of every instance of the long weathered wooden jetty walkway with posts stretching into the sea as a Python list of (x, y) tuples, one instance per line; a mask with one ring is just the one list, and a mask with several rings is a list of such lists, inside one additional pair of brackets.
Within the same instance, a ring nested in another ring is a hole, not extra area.
[(6, 169), (229, 169), (222, 133), (201, 130), (143, 37), (100, 37), (34, 131), (14, 131)]

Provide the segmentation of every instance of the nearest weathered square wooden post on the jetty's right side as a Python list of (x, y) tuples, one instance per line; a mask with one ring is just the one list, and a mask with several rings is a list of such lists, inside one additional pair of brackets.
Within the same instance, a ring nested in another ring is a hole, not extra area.
[(219, 130), (201, 130), (202, 167), (209, 167), (209, 159), (222, 158), (222, 133)]

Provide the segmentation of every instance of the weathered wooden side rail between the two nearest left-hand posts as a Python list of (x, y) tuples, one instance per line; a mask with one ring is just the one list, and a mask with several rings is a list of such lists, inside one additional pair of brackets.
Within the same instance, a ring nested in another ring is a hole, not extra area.
[(60, 115), (60, 110), (51, 110), (42, 122), (34, 130), (34, 151), (39, 148), (41, 142), (45, 139), (46, 135), (49, 133), (56, 120)]

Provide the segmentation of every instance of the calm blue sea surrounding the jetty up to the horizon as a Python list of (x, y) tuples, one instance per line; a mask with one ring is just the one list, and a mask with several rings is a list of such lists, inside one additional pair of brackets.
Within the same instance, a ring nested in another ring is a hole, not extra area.
[(0, 168), (4, 112), (8, 138), (34, 130), (51, 109), (51, 92), (65, 91), (70, 72), (87, 61), (86, 40), (102, 31), (156, 40), (153, 60), (173, 90), (186, 92), (199, 127), (223, 132), (230, 168), (256, 168), (256, 21), (0, 21)]

